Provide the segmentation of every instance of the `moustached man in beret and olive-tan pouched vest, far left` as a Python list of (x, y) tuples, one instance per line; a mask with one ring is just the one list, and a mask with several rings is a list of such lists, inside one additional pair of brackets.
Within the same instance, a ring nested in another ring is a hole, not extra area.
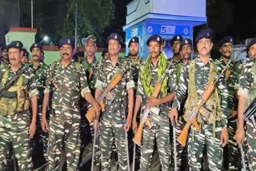
[[(25, 70), (8, 91), (16, 97), (0, 97), (0, 170), (10, 170), (10, 150), (14, 149), (19, 170), (32, 170), (30, 139), (37, 121), (37, 94), (34, 74), (29, 66), (22, 65), (22, 42), (11, 42), (7, 47), (10, 65), (0, 70), (1, 87), (10, 82), (21, 70)], [(29, 112), (32, 102), (32, 116)]]

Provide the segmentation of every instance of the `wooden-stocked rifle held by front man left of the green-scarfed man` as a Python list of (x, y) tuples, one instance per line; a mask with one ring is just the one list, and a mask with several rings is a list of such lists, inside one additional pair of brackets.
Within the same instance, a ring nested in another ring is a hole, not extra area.
[[(136, 59), (134, 60), (134, 62), (135, 62), (137, 59), (138, 59), (138, 58), (136, 58)], [(132, 62), (132, 63), (130, 64), (130, 66), (133, 65), (134, 62)], [(126, 70), (128, 70), (128, 69), (130, 68), (130, 66), (128, 66), (128, 67), (126, 68)], [(97, 98), (98, 104), (101, 106), (102, 112), (105, 112), (105, 110), (106, 110), (106, 109), (105, 109), (104, 102), (103, 102), (103, 99), (104, 99), (105, 97), (109, 97), (111, 102), (114, 100), (114, 97), (112, 96), (112, 94), (110, 93), (110, 91), (111, 91), (112, 89), (114, 89), (114, 87), (115, 87), (116, 85), (118, 85), (118, 83), (122, 80), (122, 74), (125, 74), (125, 73), (126, 73), (126, 70), (123, 70), (122, 73), (121, 73), (121, 72), (117, 72), (116, 74), (114, 74), (113, 79), (112, 79), (111, 82), (110, 82), (110, 85), (108, 85), (108, 86), (106, 87), (106, 89), (104, 89), (102, 95)], [(95, 111), (94, 111), (94, 108), (93, 108), (93, 107), (86, 113), (86, 118), (87, 118), (87, 120), (89, 121), (89, 123), (91, 123), (91, 122), (94, 120), (94, 113), (95, 113)]]

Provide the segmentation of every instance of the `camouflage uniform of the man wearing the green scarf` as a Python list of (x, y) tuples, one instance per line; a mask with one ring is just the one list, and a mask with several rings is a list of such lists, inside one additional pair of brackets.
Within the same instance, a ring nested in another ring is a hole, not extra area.
[[(142, 85), (142, 70), (144, 66), (144, 62), (142, 63), (141, 70), (138, 73), (138, 89), (136, 93), (136, 97), (140, 97), (142, 99), (142, 113), (146, 109), (147, 97)], [(167, 67), (170, 65), (170, 62), (167, 62)], [(158, 82), (158, 66), (154, 67), (152, 63), (150, 63), (150, 70), (152, 70), (152, 79), (150, 82), (151, 86), (155, 86)], [(170, 67), (168, 70), (168, 74), (166, 75), (167, 89), (168, 93), (174, 93), (176, 88), (176, 78), (174, 74), (174, 65)], [(163, 97), (162, 92), (158, 96), (159, 98)], [(140, 170), (149, 170), (152, 162), (152, 156), (154, 152), (154, 142), (156, 141), (158, 147), (158, 155), (162, 165), (162, 170), (170, 170), (171, 165), (171, 146), (170, 146), (170, 119), (168, 117), (168, 111), (170, 108), (168, 107), (170, 104), (162, 104), (158, 107), (160, 112), (149, 114), (149, 119), (153, 127), (150, 129), (148, 126), (145, 126), (143, 129), (142, 135), (142, 147), (141, 147), (141, 163)]]

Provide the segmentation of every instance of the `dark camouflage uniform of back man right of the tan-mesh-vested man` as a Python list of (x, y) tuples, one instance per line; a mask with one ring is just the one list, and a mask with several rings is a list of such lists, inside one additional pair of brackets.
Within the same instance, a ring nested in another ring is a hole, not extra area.
[[(222, 70), (226, 67), (226, 63), (223, 61), (223, 58), (219, 58), (215, 61), (216, 67), (218, 70), (218, 73), (221, 73)], [(239, 78), (239, 68), (240, 63), (239, 62), (230, 62), (230, 66), (226, 70), (230, 70), (230, 78), (227, 80), (227, 89), (229, 91), (229, 97), (228, 97), (228, 109), (230, 116), (234, 111), (238, 110), (238, 99), (236, 97), (236, 89), (235, 84)], [(226, 76), (227, 77), (227, 76)], [(227, 79), (227, 78), (226, 78)], [(238, 144), (237, 141), (234, 138), (235, 131), (237, 129), (237, 120), (234, 118), (233, 120), (228, 120), (228, 129), (229, 129), (229, 143), (226, 146), (226, 149), (224, 149), (224, 153), (228, 153), (228, 156), (224, 156), (224, 163), (229, 163), (229, 170), (238, 170), (239, 162), (238, 162)], [(226, 161), (226, 162), (225, 162)]]

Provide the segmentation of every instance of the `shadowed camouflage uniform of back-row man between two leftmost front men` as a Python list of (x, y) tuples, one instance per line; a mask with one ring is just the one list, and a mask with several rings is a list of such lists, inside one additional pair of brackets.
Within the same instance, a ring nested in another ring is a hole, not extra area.
[[(32, 63), (30, 64), (32, 66)], [(34, 68), (34, 67), (33, 67)], [(48, 161), (47, 157), (47, 143), (48, 143), (48, 133), (42, 131), (42, 101), (44, 96), (44, 89), (46, 86), (46, 75), (48, 74), (49, 66), (40, 62), (37, 68), (34, 68), (34, 80), (37, 83), (38, 89), (38, 115), (37, 115), (37, 129), (36, 135), (34, 136), (34, 146), (33, 150), (38, 151), (38, 147), (42, 145), (43, 157)], [(30, 110), (32, 112), (32, 110)], [(49, 113), (47, 113), (47, 119), (49, 119)]]

